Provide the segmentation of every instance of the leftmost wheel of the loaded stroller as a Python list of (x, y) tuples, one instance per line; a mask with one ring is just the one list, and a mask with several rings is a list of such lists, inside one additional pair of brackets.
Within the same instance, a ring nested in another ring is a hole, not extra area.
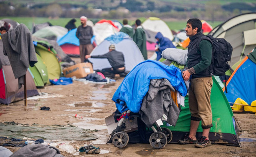
[(114, 146), (119, 148), (125, 147), (128, 142), (129, 142), (129, 136), (124, 131), (117, 132), (112, 137), (112, 143), (114, 144)]

